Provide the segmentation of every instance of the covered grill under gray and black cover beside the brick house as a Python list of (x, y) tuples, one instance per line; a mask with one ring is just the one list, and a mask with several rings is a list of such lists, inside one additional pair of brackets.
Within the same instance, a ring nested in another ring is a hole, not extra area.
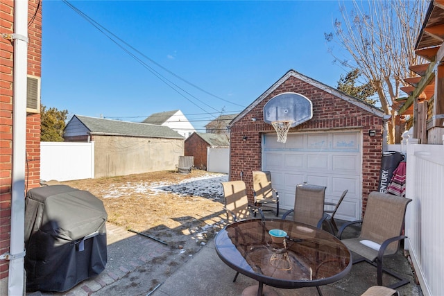
[(103, 202), (66, 185), (26, 195), (26, 288), (65, 291), (99, 275), (107, 261)]

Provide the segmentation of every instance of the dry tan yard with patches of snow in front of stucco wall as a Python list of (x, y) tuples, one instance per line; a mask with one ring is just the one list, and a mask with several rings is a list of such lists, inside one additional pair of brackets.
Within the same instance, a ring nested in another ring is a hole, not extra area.
[[(103, 200), (108, 221), (193, 253), (224, 226), (228, 175), (194, 170), (160, 171), (62, 182)], [(196, 247), (191, 247), (195, 244)]]

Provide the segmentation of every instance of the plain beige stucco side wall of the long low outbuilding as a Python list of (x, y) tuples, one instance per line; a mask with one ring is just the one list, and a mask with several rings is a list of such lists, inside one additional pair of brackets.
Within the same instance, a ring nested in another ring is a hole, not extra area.
[(97, 136), (94, 177), (173, 171), (184, 155), (183, 139)]

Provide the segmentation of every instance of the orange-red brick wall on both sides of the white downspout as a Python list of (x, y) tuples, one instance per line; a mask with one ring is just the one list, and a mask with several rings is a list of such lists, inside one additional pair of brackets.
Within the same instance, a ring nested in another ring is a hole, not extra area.
[[(38, 7), (38, 10), (37, 10)], [(41, 76), (42, 5), (28, 1), (28, 74)], [(0, 32), (14, 33), (14, 1), (0, 2)], [(0, 254), (9, 251), (12, 171), (12, 42), (0, 37)], [(26, 190), (40, 184), (40, 114), (26, 117)], [(8, 277), (8, 261), (0, 261), (0, 279)]]

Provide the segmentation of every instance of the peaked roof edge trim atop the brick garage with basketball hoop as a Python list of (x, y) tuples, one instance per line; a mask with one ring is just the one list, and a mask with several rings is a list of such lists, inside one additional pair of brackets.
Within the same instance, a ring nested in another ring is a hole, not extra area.
[(375, 116), (379, 116), (379, 117), (383, 117), (384, 116), (384, 112), (373, 106), (370, 105), (368, 103), (366, 103), (365, 101), (359, 100), (359, 98), (355, 98), (352, 96), (349, 96), (348, 94), (345, 94), (341, 91), (339, 91), (338, 89), (335, 89), (334, 87), (330, 87), (328, 85), (323, 84), (322, 82), (319, 82), (317, 80), (314, 80), (313, 78), (309, 78), (308, 76), (302, 75), (299, 72), (296, 72), (294, 70), (289, 70), (287, 73), (285, 73), (284, 76), (282, 76), (277, 82), (275, 82), (275, 84), (273, 84), (270, 88), (268, 88), (264, 94), (262, 94), (261, 96), (259, 96), (259, 98), (257, 98), (253, 103), (251, 103), (250, 105), (248, 105), (248, 107), (246, 107), (244, 109), (244, 111), (242, 111), (241, 113), (239, 113), (238, 116), (236, 116), (236, 118), (234, 118), (231, 123), (230, 123), (230, 127), (236, 123), (237, 121), (239, 121), (239, 119), (241, 119), (242, 117), (244, 117), (245, 114), (247, 114), (248, 112), (250, 112), (251, 110), (253, 110), (254, 107), (256, 107), (257, 104), (259, 104), (260, 102), (262, 102), (262, 100), (264, 100), (264, 98), (266, 98), (269, 94), (271, 94), (275, 89), (277, 89), (278, 87), (280, 87), (280, 85), (282, 85), (287, 79), (289, 79), (291, 76), (298, 78), (299, 80), (302, 80), (304, 82), (307, 82), (309, 85), (313, 85), (314, 87), (317, 87), (318, 89), (323, 90), (324, 92), (327, 92), (329, 94), (332, 94), (333, 96), (336, 96), (338, 98), (343, 99), (344, 101), (348, 101), (348, 103), (351, 103), (353, 105), (356, 105), (357, 107), (360, 107), (361, 109), (366, 110), (367, 112), (370, 112), (371, 114), (374, 114)]

